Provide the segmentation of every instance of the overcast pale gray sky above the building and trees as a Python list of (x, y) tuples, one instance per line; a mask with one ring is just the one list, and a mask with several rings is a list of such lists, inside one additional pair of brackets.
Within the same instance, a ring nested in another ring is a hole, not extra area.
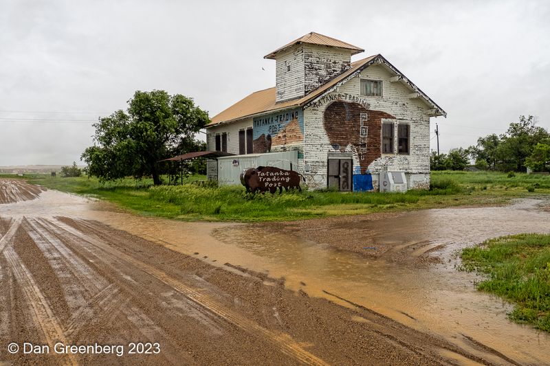
[(447, 111), (442, 152), (519, 115), (548, 129), (549, 19), (544, 0), (0, 0), (0, 165), (78, 162), (136, 90), (212, 117), (273, 87), (263, 56), (311, 31), (384, 55)]

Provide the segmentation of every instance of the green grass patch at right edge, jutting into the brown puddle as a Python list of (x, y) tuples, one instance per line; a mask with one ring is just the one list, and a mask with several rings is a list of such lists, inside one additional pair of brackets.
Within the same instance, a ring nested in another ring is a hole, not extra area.
[(463, 268), (488, 278), (478, 289), (515, 304), (509, 317), (550, 332), (550, 235), (520, 234), (483, 242), (461, 253)]

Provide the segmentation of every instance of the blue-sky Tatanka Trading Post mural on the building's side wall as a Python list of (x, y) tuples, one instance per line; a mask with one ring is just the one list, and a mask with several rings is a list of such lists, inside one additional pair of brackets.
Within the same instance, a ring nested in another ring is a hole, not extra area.
[(304, 141), (304, 115), (301, 108), (254, 118), (254, 153)]

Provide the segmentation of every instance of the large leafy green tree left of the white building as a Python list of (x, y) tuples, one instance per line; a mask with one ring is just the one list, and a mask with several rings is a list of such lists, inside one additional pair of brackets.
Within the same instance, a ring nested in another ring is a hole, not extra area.
[(159, 160), (190, 151), (195, 133), (210, 119), (184, 95), (136, 91), (127, 112), (116, 111), (94, 124), (94, 146), (82, 155), (87, 172), (100, 180), (152, 176), (161, 183)]

